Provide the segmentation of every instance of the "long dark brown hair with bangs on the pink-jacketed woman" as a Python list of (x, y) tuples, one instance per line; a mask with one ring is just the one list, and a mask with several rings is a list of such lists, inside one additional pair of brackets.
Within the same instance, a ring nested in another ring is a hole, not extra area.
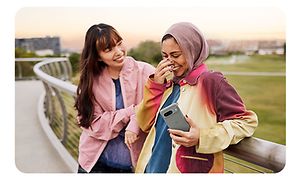
[(79, 116), (79, 126), (89, 128), (94, 118), (94, 104), (98, 103), (93, 93), (94, 77), (100, 75), (107, 66), (100, 61), (99, 52), (111, 49), (121, 40), (119, 33), (107, 24), (93, 25), (86, 32), (80, 57), (80, 80), (74, 105)]

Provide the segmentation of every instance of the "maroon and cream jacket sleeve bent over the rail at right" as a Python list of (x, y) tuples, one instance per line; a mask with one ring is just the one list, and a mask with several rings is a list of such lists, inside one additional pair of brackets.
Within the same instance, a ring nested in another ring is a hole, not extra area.
[(200, 129), (197, 152), (215, 153), (252, 136), (258, 120), (254, 112), (246, 110), (235, 91), (222, 77), (215, 83), (215, 94), (211, 95), (217, 113), (217, 124), (209, 129)]

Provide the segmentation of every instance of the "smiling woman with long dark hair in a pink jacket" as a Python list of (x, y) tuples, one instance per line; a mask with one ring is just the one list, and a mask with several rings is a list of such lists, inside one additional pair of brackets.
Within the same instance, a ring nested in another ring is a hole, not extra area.
[(78, 172), (132, 172), (146, 137), (136, 123), (135, 106), (154, 67), (126, 56), (119, 33), (98, 24), (86, 33), (80, 72)]

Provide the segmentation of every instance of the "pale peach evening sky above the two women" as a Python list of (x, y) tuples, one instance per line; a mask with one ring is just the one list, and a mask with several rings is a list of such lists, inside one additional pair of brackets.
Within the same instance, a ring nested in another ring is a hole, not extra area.
[(115, 27), (128, 48), (160, 41), (172, 24), (188, 21), (207, 39), (285, 39), (285, 13), (278, 7), (23, 7), (15, 15), (15, 37), (59, 36), (63, 49), (80, 50), (87, 29)]

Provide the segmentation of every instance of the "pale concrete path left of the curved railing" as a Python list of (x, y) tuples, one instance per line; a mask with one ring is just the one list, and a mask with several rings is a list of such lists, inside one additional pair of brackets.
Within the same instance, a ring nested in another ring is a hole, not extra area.
[(71, 172), (51, 145), (37, 115), (41, 81), (15, 82), (15, 163), (25, 173)]

